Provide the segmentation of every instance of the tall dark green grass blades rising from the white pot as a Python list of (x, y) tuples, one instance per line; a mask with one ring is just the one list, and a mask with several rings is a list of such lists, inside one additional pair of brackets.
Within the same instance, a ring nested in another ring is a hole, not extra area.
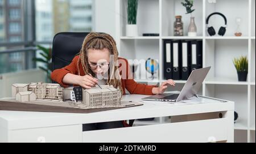
[(138, 0), (127, 0), (127, 22), (137, 24)]

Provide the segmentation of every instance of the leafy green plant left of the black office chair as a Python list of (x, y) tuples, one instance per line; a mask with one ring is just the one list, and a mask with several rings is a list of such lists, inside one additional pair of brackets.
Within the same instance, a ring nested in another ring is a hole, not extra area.
[(51, 83), (51, 71), (52, 71), (52, 52), (51, 52), (51, 48), (47, 49), (44, 48), (43, 46), (36, 46), (38, 48), (38, 50), (40, 50), (40, 55), (42, 55), (42, 57), (40, 58), (33, 58), (32, 60), (35, 62), (42, 62), (44, 63), (44, 66), (39, 66), (39, 69), (43, 70), (44, 72), (46, 72), (46, 83)]

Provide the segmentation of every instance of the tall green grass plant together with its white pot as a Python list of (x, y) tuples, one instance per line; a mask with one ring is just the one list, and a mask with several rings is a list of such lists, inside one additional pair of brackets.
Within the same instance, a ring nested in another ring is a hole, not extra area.
[(137, 8), (138, 0), (127, 0), (126, 36), (128, 37), (138, 36)]

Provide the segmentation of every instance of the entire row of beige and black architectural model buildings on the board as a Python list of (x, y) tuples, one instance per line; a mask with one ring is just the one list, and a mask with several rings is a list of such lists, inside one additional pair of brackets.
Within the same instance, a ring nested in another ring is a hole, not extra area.
[[(31, 83), (13, 84), (12, 94), (16, 101), (31, 102), (59, 100), (88, 107), (120, 106), (121, 91), (113, 85), (101, 85), (91, 89), (81, 87), (63, 88), (59, 84)], [(52, 101), (53, 102), (53, 101)]]

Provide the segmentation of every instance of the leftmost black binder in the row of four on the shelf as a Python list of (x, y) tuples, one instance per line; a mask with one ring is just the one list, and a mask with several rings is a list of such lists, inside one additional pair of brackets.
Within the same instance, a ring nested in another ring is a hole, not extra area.
[(171, 40), (164, 40), (164, 79), (172, 79)]

